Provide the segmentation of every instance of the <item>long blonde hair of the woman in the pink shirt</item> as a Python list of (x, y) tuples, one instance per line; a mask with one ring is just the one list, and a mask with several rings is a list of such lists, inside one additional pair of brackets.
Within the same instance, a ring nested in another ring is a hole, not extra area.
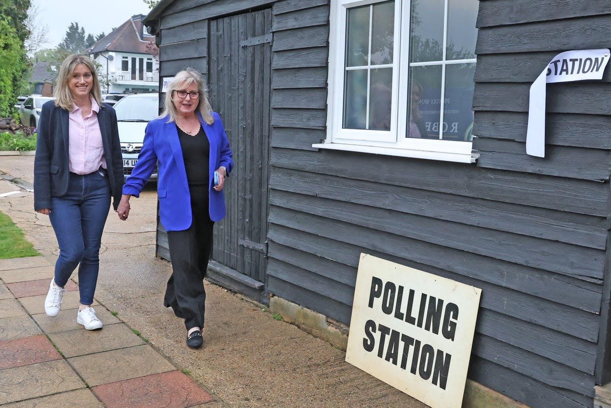
[(89, 59), (89, 57), (83, 54), (70, 54), (66, 57), (66, 59), (64, 59), (64, 62), (62, 62), (62, 65), (59, 67), (59, 73), (57, 74), (57, 86), (53, 90), (55, 106), (63, 107), (68, 111), (71, 111), (74, 107), (74, 99), (72, 97), (72, 92), (70, 92), (70, 87), (68, 87), (68, 82), (70, 82), (72, 73), (78, 64), (85, 65), (91, 72), (93, 84), (89, 94), (93, 97), (93, 99), (95, 99), (98, 105), (101, 106), (102, 104), (100, 82), (98, 81), (98, 74), (95, 71), (93, 62)]

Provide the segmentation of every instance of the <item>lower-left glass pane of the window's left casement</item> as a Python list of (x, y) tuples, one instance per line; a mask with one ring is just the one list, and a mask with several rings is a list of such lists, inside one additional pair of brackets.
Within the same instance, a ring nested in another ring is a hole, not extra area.
[(367, 118), (367, 70), (346, 71), (343, 128), (365, 129)]

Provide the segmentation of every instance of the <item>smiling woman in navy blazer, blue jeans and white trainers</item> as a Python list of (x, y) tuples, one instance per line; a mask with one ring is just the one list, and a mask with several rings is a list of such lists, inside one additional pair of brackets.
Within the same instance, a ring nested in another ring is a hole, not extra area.
[(57, 316), (64, 285), (78, 265), (76, 321), (87, 330), (100, 329), (90, 306), (111, 197), (117, 209), (123, 186), (117, 116), (102, 103), (95, 68), (82, 54), (62, 62), (54, 97), (40, 113), (34, 159), (34, 209), (49, 216), (59, 244), (45, 313)]

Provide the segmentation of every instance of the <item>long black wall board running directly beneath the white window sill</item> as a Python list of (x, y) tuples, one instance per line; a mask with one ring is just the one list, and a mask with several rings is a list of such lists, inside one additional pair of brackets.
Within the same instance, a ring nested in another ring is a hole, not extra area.
[[(274, 111), (277, 111), (275, 109)], [(293, 109), (288, 112), (298, 114)], [(288, 117), (287, 112), (287, 117)], [(607, 216), (609, 189), (596, 181), (478, 168), (474, 164), (376, 156), (320, 150), (272, 150), (271, 163), (283, 169), (318, 173), (333, 169), (337, 177), (365, 178), (381, 185), (405, 186), (578, 214)]]

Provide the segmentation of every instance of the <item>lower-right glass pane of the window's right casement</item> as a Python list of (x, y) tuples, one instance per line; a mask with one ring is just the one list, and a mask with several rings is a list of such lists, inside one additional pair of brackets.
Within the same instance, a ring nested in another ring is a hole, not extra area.
[(472, 139), (475, 64), (445, 68), (444, 140)]

